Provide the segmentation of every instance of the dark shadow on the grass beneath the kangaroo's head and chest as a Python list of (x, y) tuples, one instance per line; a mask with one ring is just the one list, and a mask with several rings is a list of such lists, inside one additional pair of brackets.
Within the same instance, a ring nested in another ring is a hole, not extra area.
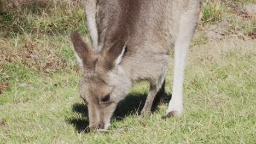
[[(122, 116), (119, 115), (120, 113), (117, 109), (114, 113), (114, 118), (118, 121), (121, 121), (126, 116), (138, 115), (139, 112), (143, 109), (146, 98), (146, 93), (128, 94), (127, 97), (119, 103)], [(170, 99), (171, 95), (166, 95), (166, 98)], [(153, 109), (152, 111), (155, 112), (156, 110), (157, 108)], [(71, 118), (67, 118), (67, 122), (74, 125), (78, 133), (88, 133), (89, 116), (87, 105), (85, 105), (84, 103), (75, 103), (72, 106), (72, 111), (73, 116)]]

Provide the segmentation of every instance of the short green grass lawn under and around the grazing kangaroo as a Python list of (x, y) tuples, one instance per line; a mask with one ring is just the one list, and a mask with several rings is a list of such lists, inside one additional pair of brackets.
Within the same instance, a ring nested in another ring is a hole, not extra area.
[[(66, 44), (72, 49), (69, 42)], [(167, 105), (160, 106), (148, 118), (131, 113), (122, 121), (113, 119), (110, 129), (133, 128), (120, 134), (78, 133), (87, 117), (79, 98), (80, 75), (75, 68), (50, 76), (32, 73), (22, 80), (16, 78), (18, 80), (10, 82), (10, 88), (1, 94), (0, 119), (4, 122), (1, 143), (253, 143), (256, 96), (253, 47), (253, 40), (219, 41), (192, 47), (185, 74), (184, 115), (161, 119)], [(172, 67), (171, 63), (170, 69)], [(20, 87), (21, 83), (27, 86)], [(171, 85), (170, 70), (167, 93), (171, 93)], [(127, 99), (142, 100), (139, 95), (147, 92), (148, 85), (140, 83), (129, 94), (134, 98)], [(132, 103), (126, 109), (131, 111), (138, 105)]]

